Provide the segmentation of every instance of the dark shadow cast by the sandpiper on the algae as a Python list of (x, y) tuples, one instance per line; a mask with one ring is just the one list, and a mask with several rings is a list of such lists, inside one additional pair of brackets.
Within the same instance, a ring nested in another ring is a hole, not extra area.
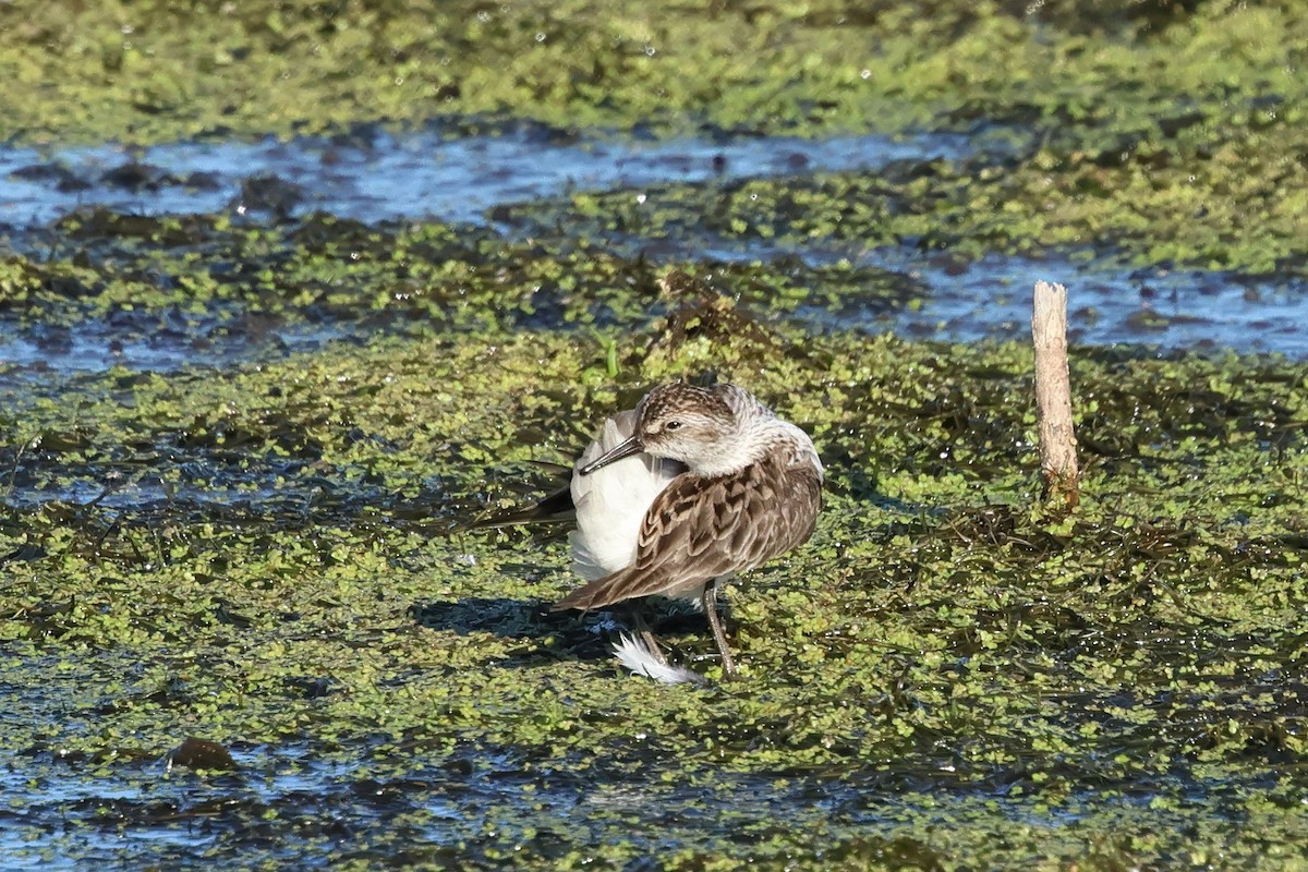
[[(409, 607), (419, 626), (470, 635), (489, 633), (521, 642), (504, 665), (532, 668), (560, 660), (607, 660), (613, 643), (628, 630), (621, 612), (552, 612), (548, 600), (513, 600), (470, 596), (460, 600), (428, 600)], [(702, 633), (705, 618), (696, 612), (659, 604), (645, 607), (645, 616), (661, 638), (679, 633)]]

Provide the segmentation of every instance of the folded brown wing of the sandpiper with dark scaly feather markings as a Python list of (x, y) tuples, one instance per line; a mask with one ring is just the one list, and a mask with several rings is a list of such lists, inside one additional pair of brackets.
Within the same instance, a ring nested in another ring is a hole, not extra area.
[(820, 505), (821, 482), (808, 464), (768, 458), (717, 478), (678, 476), (645, 515), (632, 565), (573, 591), (555, 609), (675, 595), (753, 569), (807, 541)]

